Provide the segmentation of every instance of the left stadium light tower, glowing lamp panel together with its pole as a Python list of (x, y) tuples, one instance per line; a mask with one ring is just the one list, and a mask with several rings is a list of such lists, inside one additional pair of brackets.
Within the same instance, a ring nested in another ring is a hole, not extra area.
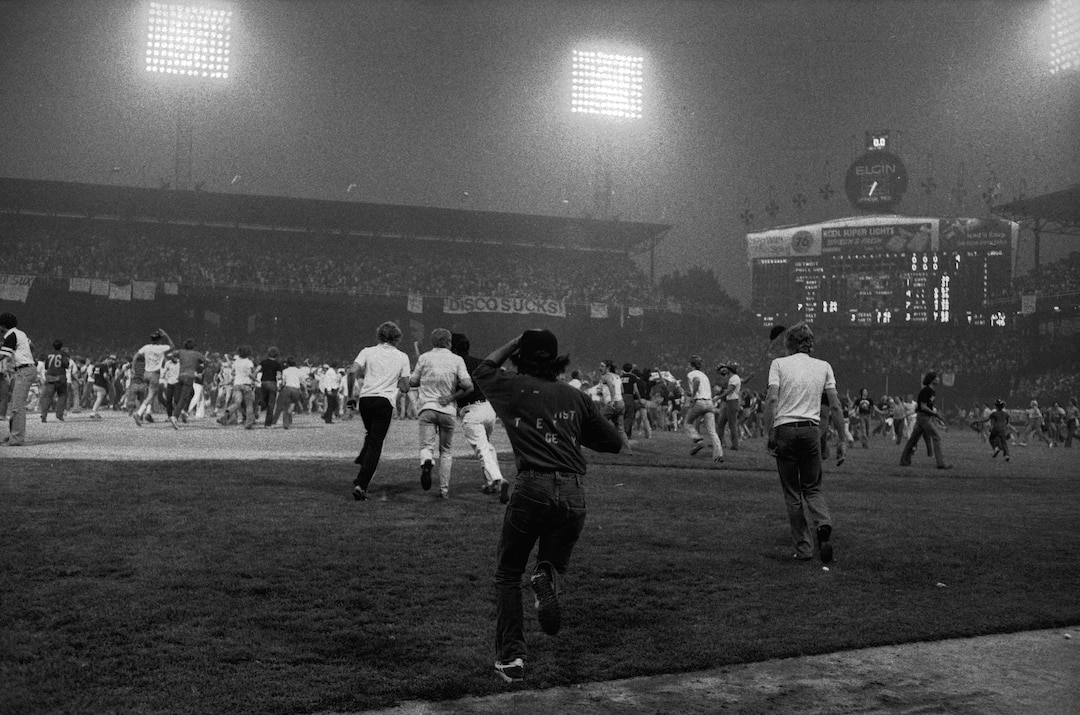
[(150, 2), (147, 6), (146, 71), (176, 82), (174, 187), (191, 187), (193, 140), (188, 91), (229, 79), (232, 10), (219, 3)]

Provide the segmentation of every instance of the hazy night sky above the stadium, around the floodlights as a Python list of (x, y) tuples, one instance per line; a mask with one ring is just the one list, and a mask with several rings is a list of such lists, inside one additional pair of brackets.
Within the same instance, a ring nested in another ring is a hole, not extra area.
[[(211, 191), (580, 216), (606, 168), (615, 214), (675, 225), (658, 272), (714, 268), (743, 301), (747, 230), (856, 214), (866, 130), (897, 140), (904, 214), (1080, 181), (1045, 0), (234, 2), (211, 87), (144, 70), (145, 8), (0, 2), (0, 176), (160, 186), (178, 111)], [(644, 119), (570, 114), (584, 46), (645, 56)]]

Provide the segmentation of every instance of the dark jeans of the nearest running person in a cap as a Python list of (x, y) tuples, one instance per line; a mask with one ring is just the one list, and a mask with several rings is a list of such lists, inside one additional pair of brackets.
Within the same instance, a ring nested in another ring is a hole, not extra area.
[(495, 651), (499, 660), (526, 656), (522, 575), (538, 539), (537, 566), (550, 566), (556, 581), (566, 572), (585, 525), (585, 490), (581, 482), (581, 474), (570, 472), (517, 474), (502, 518), (495, 569)]

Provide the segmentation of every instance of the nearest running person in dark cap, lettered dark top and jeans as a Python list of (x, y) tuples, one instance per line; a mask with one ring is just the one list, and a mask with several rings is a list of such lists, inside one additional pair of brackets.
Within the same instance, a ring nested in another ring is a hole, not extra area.
[[(500, 369), (510, 360), (516, 373)], [(585, 460), (581, 447), (618, 453), (625, 434), (605, 419), (592, 399), (559, 382), (570, 359), (558, 354), (550, 330), (526, 330), (473, 370), (507, 429), (517, 477), (502, 520), (495, 571), (495, 671), (508, 683), (525, 678), (522, 576), (539, 541), (529, 584), (537, 619), (558, 633), (559, 582), (585, 524)]]

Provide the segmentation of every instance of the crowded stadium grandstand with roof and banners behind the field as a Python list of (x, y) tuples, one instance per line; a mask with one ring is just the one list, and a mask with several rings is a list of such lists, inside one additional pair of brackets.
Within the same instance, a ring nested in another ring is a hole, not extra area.
[[(680, 376), (700, 353), (742, 363), (756, 373), (747, 387), (764, 390), (767, 329), (712, 271), (649, 274), (640, 258), (670, 228), (0, 179), (0, 241), (14, 257), (0, 308), (36, 326), (38, 342), (63, 337), (91, 359), (130, 352), (158, 326), (208, 351), (272, 345), (349, 361), (388, 319), (421, 347), (434, 327), (467, 333), (477, 353), (542, 325), (583, 372), (609, 358)], [(1075, 291), (1078, 258), (1017, 278), (1009, 299), (1018, 309), (1035, 280), (1040, 294)], [(1007, 328), (819, 326), (820, 354), (841, 392), (913, 392), (936, 368), (955, 376), (957, 403), (1039, 390), (1061, 400), (1077, 391), (1077, 319), (1040, 302)]]

